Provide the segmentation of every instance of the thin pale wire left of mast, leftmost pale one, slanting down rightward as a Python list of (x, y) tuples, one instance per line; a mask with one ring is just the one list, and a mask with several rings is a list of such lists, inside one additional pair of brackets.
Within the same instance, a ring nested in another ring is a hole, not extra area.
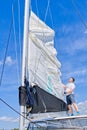
[(18, 83), (20, 83), (20, 76), (19, 76), (19, 67), (18, 67), (18, 53), (17, 53), (17, 39), (16, 39), (16, 31), (15, 31), (15, 21), (14, 21), (14, 7), (12, 5), (12, 17), (13, 17), (13, 32), (14, 32), (14, 40), (15, 40), (15, 54), (16, 54), (16, 63), (17, 63), (17, 77), (18, 77)]

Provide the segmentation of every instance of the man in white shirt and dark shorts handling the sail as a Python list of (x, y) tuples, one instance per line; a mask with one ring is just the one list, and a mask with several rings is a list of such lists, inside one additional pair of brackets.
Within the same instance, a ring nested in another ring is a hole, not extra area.
[(75, 84), (74, 84), (74, 81), (75, 81), (75, 79), (73, 77), (71, 77), (69, 79), (69, 83), (66, 84), (66, 86), (65, 86), (66, 101), (67, 101), (67, 105), (68, 105), (68, 109), (69, 109), (69, 114), (71, 114), (71, 116), (73, 116), (72, 106), (76, 110), (77, 115), (80, 114), (79, 110), (78, 110), (78, 106), (75, 103), (75, 97), (74, 97)]

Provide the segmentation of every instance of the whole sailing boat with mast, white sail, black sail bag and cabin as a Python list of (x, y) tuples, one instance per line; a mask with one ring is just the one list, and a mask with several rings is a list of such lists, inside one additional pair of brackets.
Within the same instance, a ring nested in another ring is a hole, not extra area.
[(20, 130), (86, 128), (87, 116), (66, 115), (61, 63), (54, 48), (55, 32), (29, 7), (30, 0), (25, 0)]

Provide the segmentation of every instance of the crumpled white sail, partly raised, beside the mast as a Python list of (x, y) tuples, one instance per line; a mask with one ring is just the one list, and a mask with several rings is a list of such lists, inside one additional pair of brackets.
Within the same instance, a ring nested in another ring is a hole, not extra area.
[(54, 31), (42, 22), (33, 12), (29, 25), (28, 77), (45, 91), (63, 99), (61, 64), (56, 58)]

